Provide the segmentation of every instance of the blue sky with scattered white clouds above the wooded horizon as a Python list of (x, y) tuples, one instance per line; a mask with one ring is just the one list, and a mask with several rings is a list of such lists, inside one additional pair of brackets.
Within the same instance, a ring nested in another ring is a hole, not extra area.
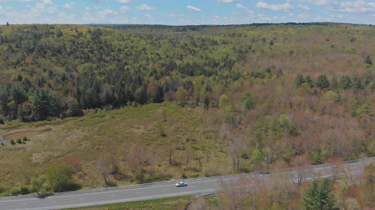
[(0, 0), (0, 24), (375, 24), (375, 0)]

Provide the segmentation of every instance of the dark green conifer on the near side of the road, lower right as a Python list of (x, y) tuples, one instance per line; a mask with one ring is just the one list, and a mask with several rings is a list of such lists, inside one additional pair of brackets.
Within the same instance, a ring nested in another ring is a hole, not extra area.
[(317, 181), (312, 182), (302, 195), (304, 210), (332, 210), (335, 202), (328, 179), (324, 179), (320, 185)]

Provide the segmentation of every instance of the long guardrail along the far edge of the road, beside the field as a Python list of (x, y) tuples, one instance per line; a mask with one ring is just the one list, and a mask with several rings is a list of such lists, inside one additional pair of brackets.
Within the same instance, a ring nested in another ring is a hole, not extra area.
[[(336, 163), (350, 163), (350, 162), (363, 161), (363, 160), (374, 159), (374, 158), (375, 157), (368, 157), (368, 158), (348, 160), (348, 161), (342, 161), (342, 162), (336, 162)], [(329, 165), (329, 164), (334, 164), (334, 163), (325, 163), (325, 164), (319, 164), (319, 165), (314, 165), (314, 166), (305, 166), (303, 168), (324, 166), (324, 165)], [(281, 171), (281, 170), (293, 170), (293, 169), (298, 169), (298, 168), (299, 167), (293, 167), (293, 168), (288, 168), (288, 169), (280, 169), (280, 170), (269, 170), (267, 172), (277, 172), (277, 171)], [(144, 184), (137, 184), (137, 185), (124, 185), (124, 186), (117, 186), (117, 187), (110, 187), (110, 188), (86, 189), (86, 190), (69, 191), (69, 192), (54, 192), (54, 193), (49, 193), (49, 194), (46, 194), (46, 195), (68, 194), (68, 193), (74, 193), (74, 192), (79, 193), (79, 192), (118, 189), (118, 188), (131, 188), (131, 187), (137, 187), (137, 186), (155, 185), (155, 184), (181, 182), (181, 181), (189, 181), (189, 180), (213, 179), (213, 178), (221, 178), (221, 177), (240, 176), (240, 175), (250, 175), (250, 174), (257, 174), (257, 173), (259, 174), (261, 172), (239, 173), (239, 174), (222, 175), (222, 176), (197, 177), (197, 178), (189, 178), (189, 179), (177, 179), (177, 180), (169, 180), (169, 181), (163, 181), (163, 182), (151, 182), (151, 183), (144, 183)], [(31, 197), (31, 196), (40, 196), (40, 195), (43, 195), (43, 194), (39, 194), (39, 195), (18, 195), (18, 196), (3, 197), (3, 198), (20, 198), (20, 197)]]

